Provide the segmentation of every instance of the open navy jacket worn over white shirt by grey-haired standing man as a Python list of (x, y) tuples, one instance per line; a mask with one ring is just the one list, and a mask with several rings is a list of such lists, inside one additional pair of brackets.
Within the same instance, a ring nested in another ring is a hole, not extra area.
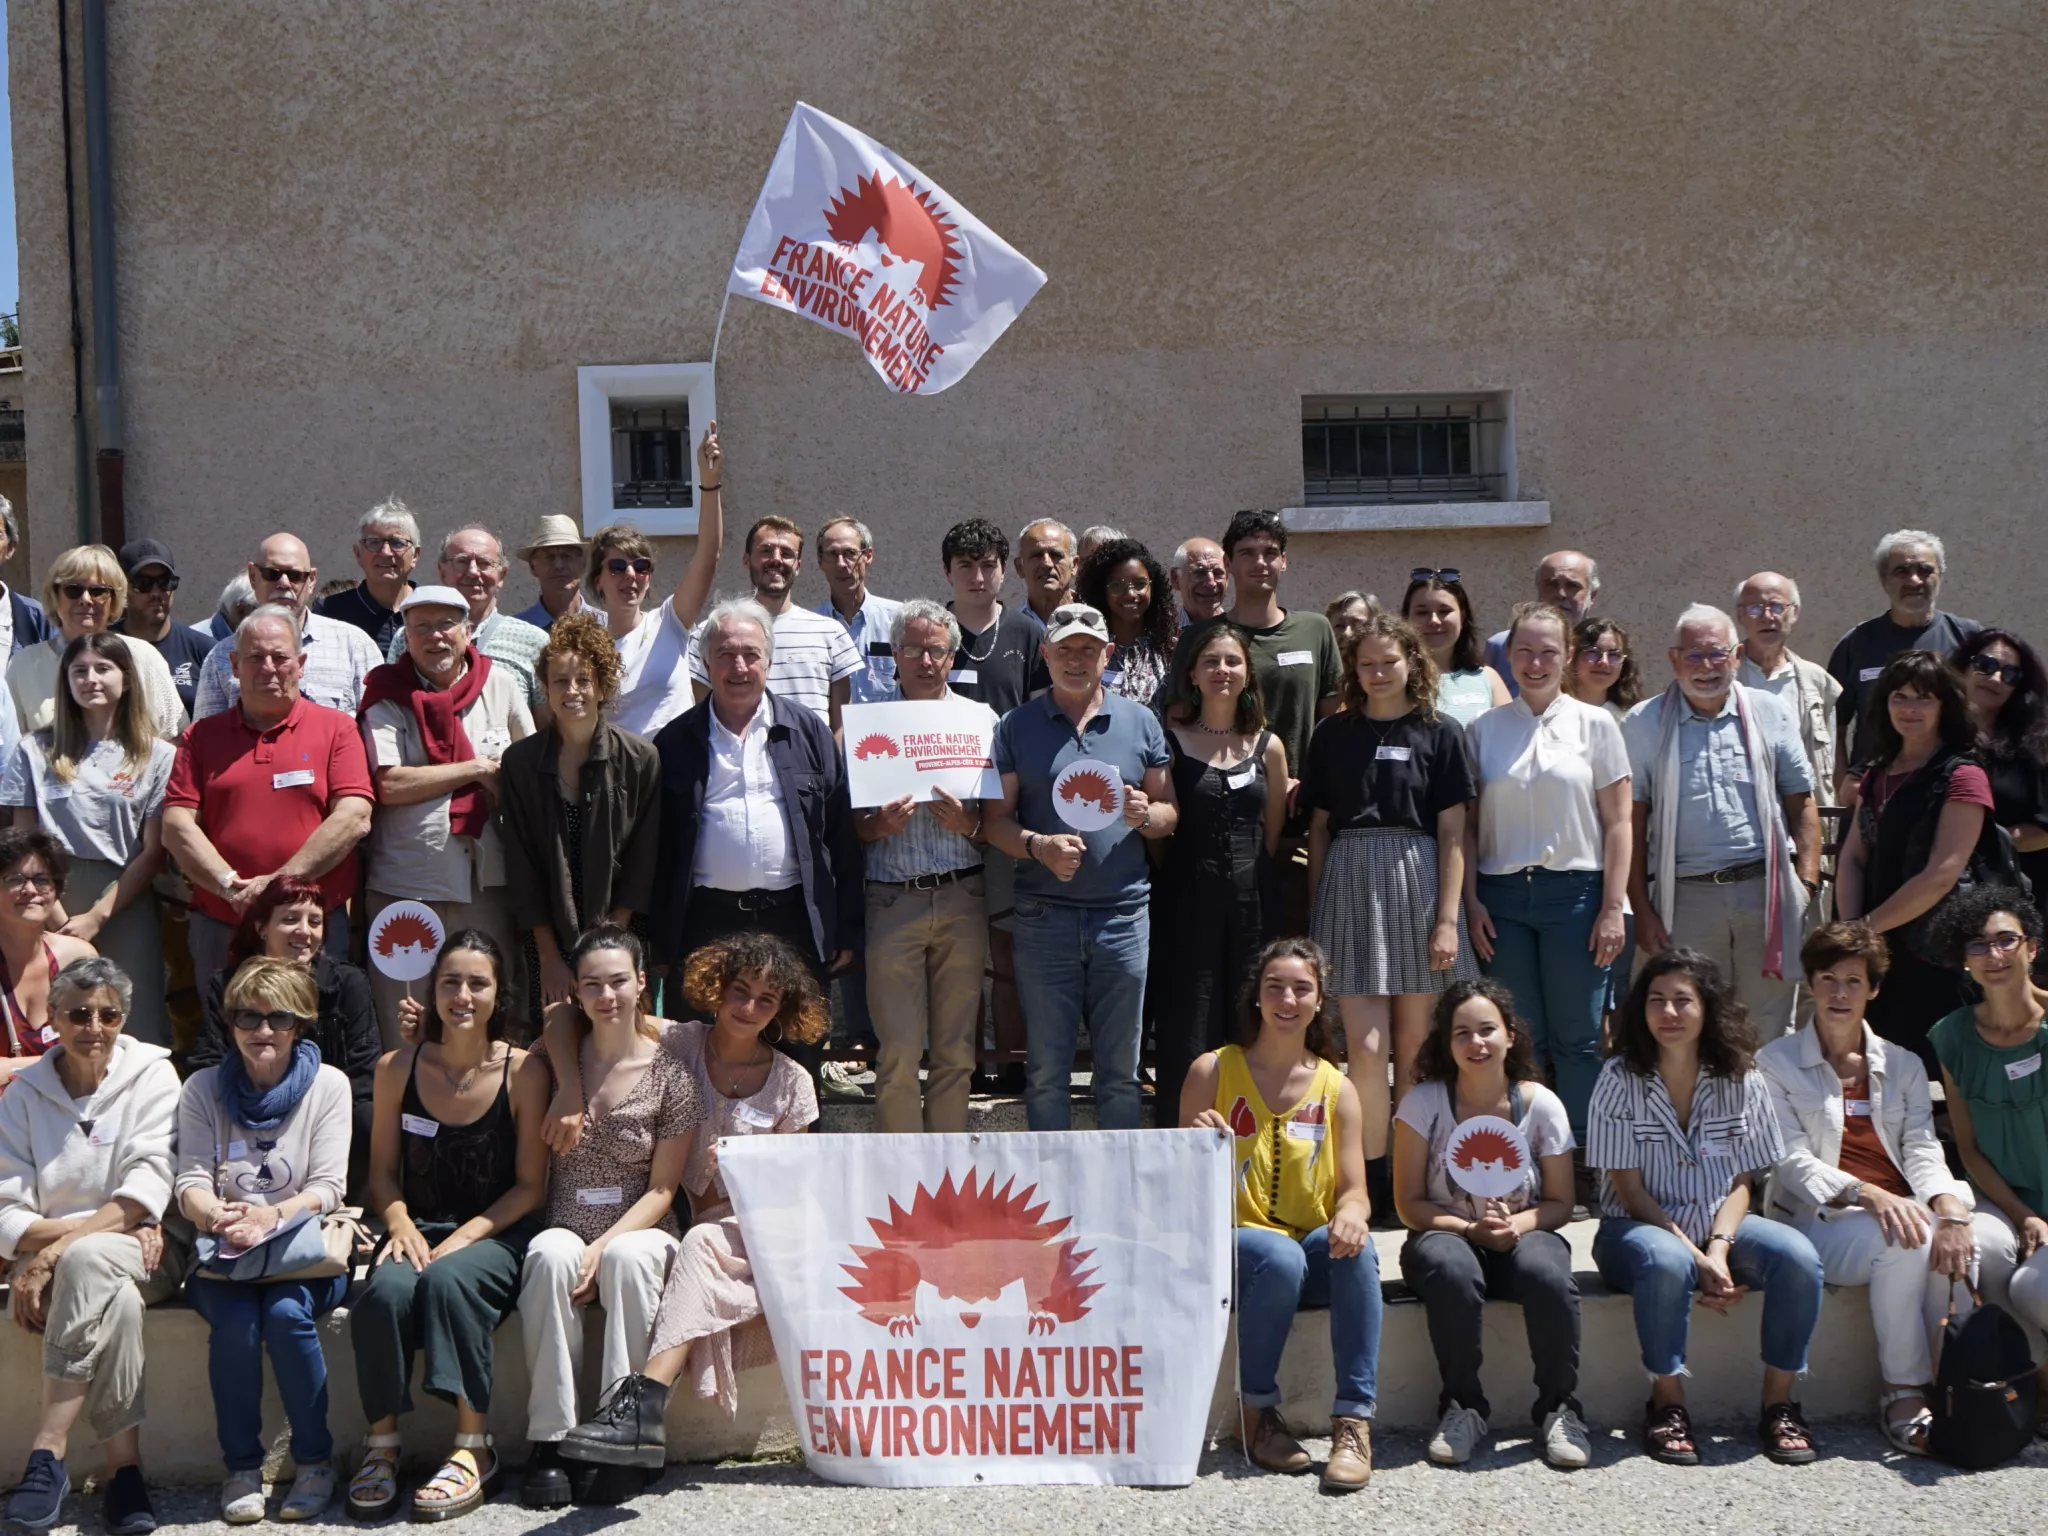
[[(768, 762), (782, 786), (782, 821), (803, 883), (817, 961), (858, 950), (866, 920), (866, 885), (846, 770), (831, 727), (813, 711), (768, 694)], [(653, 739), (662, 754), (662, 868), (653, 889), (653, 956), (680, 963), (690, 918), (690, 874), (696, 829), (711, 776), (711, 698), (678, 715)], [(801, 825), (799, 825), (801, 823)]]

